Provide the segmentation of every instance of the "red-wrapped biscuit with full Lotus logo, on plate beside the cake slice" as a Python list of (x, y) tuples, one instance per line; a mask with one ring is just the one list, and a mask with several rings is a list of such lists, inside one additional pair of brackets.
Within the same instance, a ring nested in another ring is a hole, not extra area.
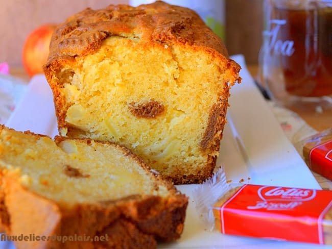
[(194, 190), (196, 208), (223, 234), (332, 244), (332, 191), (227, 184), (223, 169)]

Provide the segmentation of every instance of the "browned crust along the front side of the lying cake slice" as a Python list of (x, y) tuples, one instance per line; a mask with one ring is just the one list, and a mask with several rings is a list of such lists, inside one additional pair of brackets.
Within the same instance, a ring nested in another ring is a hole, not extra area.
[[(18, 176), (4, 173), (3, 189), (10, 217), (8, 235), (108, 236), (108, 241), (18, 241), (17, 248), (155, 248), (156, 241), (179, 238), (187, 199), (182, 194), (170, 198), (134, 196), (117, 202), (77, 205), (70, 209), (28, 191)], [(20, 205), (17, 205), (17, 203)], [(33, 225), (33, 226), (32, 226)], [(122, 233), (126, 230), (127, 233)], [(121, 233), (119, 233), (121, 232)], [(138, 236), (136, 237), (135, 234)], [(118, 241), (118, 242), (115, 242)], [(122, 244), (123, 243), (123, 244)]]

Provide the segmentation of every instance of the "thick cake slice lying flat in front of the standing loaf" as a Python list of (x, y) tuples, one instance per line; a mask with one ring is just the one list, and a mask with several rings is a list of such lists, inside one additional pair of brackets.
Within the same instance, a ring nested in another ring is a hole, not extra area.
[(182, 233), (187, 197), (121, 145), (0, 126), (0, 168), (2, 226), (28, 236), (17, 249), (155, 248)]

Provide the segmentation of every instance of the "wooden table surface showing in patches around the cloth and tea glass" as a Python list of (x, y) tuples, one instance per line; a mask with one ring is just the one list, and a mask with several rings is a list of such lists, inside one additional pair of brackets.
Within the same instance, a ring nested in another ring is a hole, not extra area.
[[(247, 65), (248, 70), (252, 74), (253, 78), (256, 78), (258, 72), (257, 65)], [(11, 68), (10, 73), (16, 77), (19, 77), (27, 82), (29, 82), (30, 78), (25, 73), (23, 68), (14, 67)], [(292, 111), (296, 112), (299, 116), (303, 118), (312, 128), (317, 131), (322, 131), (328, 128), (332, 128), (332, 110), (317, 112), (315, 110), (306, 110), (306, 109), (292, 109)]]

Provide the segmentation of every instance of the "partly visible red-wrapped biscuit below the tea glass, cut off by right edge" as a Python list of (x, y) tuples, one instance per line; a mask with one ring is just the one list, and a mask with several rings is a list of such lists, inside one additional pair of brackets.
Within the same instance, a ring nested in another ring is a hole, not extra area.
[(332, 180), (332, 129), (305, 139), (303, 157), (312, 171)]

